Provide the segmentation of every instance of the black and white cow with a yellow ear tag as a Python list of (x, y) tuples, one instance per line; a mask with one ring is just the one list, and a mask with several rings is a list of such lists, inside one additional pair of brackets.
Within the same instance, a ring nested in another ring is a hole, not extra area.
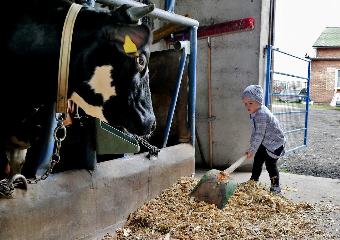
[[(56, 101), (61, 36), (71, 4), (68, 0), (22, 1), (3, 19), (6, 124), (1, 144), (10, 151), (12, 165), (10, 173), (2, 151), (0, 179), (20, 173), (27, 149), (39, 136), (39, 108)], [(137, 23), (142, 17), (138, 11), (148, 14), (152, 9), (145, 13), (145, 8), (130, 5), (112, 11), (81, 8), (73, 30), (68, 99), (88, 115), (148, 136), (156, 126), (148, 73), (152, 34), (147, 25)], [(137, 53), (124, 51), (126, 36)]]

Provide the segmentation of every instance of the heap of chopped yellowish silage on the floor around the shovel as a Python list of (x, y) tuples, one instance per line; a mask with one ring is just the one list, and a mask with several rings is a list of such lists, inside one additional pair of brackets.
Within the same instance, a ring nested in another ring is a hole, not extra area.
[[(198, 183), (181, 177), (156, 199), (131, 213), (118, 239), (333, 239), (318, 230), (318, 220), (295, 203), (271, 194), (261, 183), (238, 185), (223, 210), (189, 196)], [(124, 235), (125, 234), (125, 235)]]

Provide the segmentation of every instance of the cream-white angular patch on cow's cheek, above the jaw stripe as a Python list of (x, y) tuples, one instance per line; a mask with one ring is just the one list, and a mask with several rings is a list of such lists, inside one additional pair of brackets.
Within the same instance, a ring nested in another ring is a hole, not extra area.
[(103, 96), (104, 102), (107, 101), (111, 96), (116, 96), (115, 86), (111, 86), (111, 65), (104, 65), (96, 67), (95, 73), (93, 74), (88, 85), (95, 91)]

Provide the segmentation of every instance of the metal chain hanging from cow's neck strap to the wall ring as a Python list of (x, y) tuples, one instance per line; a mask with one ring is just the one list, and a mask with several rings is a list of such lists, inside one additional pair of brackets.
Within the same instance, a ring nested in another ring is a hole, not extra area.
[[(59, 155), (59, 150), (62, 146), (62, 141), (65, 139), (66, 137), (66, 128), (63, 124), (63, 122), (65, 122), (67, 115), (64, 115), (63, 117), (59, 117), (56, 118), (56, 120), (58, 121), (57, 126), (54, 129), (53, 132), (53, 137), (55, 140), (55, 144), (56, 144), (56, 148), (54, 153), (52, 154), (52, 156), (50, 157), (50, 161), (51, 161), (51, 166), (49, 169), (47, 169), (47, 171), (40, 176), (40, 178), (30, 178), (30, 179), (26, 179), (23, 175), (21, 174), (17, 174), (14, 175), (11, 179), (3, 179), (0, 181), (0, 194), (3, 196), (10, 196), (14, 191), (14, 185), (16, 184), (24, 184), (26, 187), (26, 184), (37, 184), (39, 181), (41, 180), (45, 180), (51, 173), (52, 173), (52, 169), (54, 167), (55, 164), (57, 164), (60, 161), (60, 155)], [(64, 135), (62, 135), (62, 137), (57, 137), (57, 131), (58, 130), (64, 130)]]

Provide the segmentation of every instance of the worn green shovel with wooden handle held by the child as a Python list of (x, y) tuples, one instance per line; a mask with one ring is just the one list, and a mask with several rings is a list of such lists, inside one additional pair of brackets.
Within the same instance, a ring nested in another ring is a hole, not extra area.
[(224, 171), (209, 170), (192, 189), (190, 196), (206, 203), (215, 204), (217, 208), (223, 209), (237, 186), (237, 183), (233, 181), (229, 174), (238, 168), (247, 156), (248, 154), (244, 154)]

